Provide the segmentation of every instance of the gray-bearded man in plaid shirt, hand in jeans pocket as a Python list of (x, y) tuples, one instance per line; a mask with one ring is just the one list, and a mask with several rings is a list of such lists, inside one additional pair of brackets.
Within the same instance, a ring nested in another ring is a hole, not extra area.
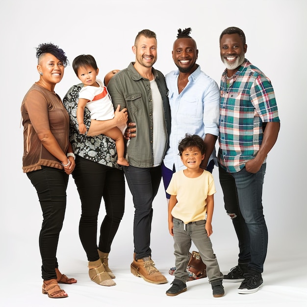
[(238, 293), (262, 285), (268, 232), (262, 209), (266, 156), (274, 146), (280, 119), (271, 81), (246, 58), (243, 31), (225, 29), (220, 36), (221, 78), (219, 177), (225, 209), (239, 241), (238, 265), (224, 282), (242, 282)]

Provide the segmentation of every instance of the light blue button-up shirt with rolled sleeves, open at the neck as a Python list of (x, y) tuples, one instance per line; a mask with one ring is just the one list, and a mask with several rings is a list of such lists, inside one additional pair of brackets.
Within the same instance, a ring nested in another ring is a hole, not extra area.
[[(205, 134), (219, 135), (220, 91), (217, 83), (207, 76), (201, 67), (188, 77), (188, 83), (182, 92), (178, 91), (179, 70), (165, 76), (169, 90), (171, 107), (170, 148), (164, 157), (164, 165), (176, 171), (185, 169), (180, 160), (178, 144), (186, 133), (197, 134), (205, 139)], [(216, 162), (215, 149), (209, 161)]]

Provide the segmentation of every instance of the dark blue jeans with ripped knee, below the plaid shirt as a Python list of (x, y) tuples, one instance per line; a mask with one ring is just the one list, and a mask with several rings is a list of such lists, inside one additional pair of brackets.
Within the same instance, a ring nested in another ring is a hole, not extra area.
[(249, 263), (249, 269), (263, 272), (267, 253), (268, 231), (262, 207), (262, 185), (266, 163), (256, 173), (242, 169), (228, 173), (219, 166), (219, 178), (224, 193), (225, 209), (232, 219), (239, 241), (239, 263)]

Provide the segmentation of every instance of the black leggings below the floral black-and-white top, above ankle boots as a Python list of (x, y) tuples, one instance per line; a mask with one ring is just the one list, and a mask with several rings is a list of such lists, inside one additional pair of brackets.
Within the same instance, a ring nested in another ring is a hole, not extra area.
[[(112, 241), (124, 215), (124, 172), (77, 155), (73, 178), (81, 200), (80, 240), (88, 261), (96, 261), (99, 259), (97, 249), (103, 253), (110, 252)], [(100, 228), (97, 247), (97, 219), (102, 197), (106, 215)]]

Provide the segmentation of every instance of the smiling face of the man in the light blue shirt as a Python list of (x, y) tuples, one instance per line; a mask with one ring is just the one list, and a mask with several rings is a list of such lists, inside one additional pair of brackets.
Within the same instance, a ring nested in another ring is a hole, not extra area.
[(174, 42), (173, 60), (181, 73), (193, 72), (198, 56), (196, 43), (192, 38), (179, 38)]

